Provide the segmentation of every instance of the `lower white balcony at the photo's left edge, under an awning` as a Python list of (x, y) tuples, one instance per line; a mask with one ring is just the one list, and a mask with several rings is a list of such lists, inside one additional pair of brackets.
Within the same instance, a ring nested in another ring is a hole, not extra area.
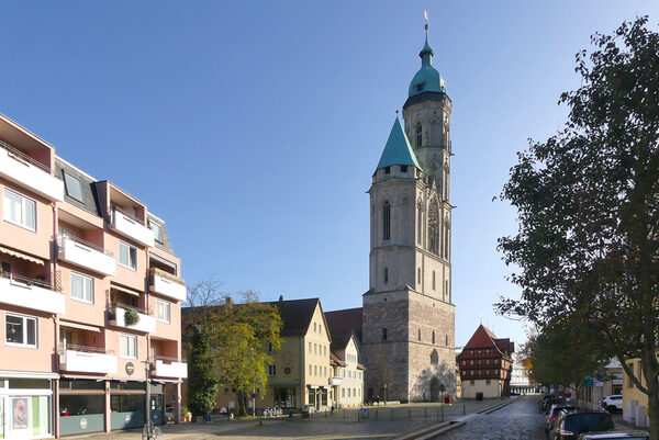
[(65, 298), (59, 289), (7, 272), (0, 277), (0, 303), (53, 314), (65, 311)]

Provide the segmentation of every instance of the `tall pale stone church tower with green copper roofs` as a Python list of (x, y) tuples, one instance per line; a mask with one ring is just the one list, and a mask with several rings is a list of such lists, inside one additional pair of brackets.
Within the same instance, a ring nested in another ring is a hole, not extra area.
[(421, 69), (372, 176), (370, 289), (364, 294), (367, 397), (455, 394), (450, 274), (451, 101), (426, 40)]

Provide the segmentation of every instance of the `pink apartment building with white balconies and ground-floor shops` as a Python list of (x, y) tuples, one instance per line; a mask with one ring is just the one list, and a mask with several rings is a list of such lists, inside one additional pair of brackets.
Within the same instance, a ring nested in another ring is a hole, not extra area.
[(165, 222), (2, 115), (0, 191), (0, 439), (163, 422), (187, 376)]

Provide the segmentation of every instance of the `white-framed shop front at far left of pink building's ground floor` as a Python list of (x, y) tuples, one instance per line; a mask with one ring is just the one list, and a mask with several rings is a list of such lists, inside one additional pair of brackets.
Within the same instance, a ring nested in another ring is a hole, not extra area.
[(53, 380), (0, 372), (0, 439), (53, 437)]

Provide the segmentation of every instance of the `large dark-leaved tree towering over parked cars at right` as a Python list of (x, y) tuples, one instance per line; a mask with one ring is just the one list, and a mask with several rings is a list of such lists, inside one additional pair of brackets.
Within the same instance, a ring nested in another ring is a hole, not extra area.
[[(659, 440), (659, 35), (648, 18), (595, 34), (577, 54), (579, 89), (565, 128), (518, 154), (502, 198), (518, 212), (501, 238), (520, 301), (505, 314), (539, 326), (570, 316), (599, 336), (648, 396)], [(641, 374), (627, 362), (640, 358)]]

